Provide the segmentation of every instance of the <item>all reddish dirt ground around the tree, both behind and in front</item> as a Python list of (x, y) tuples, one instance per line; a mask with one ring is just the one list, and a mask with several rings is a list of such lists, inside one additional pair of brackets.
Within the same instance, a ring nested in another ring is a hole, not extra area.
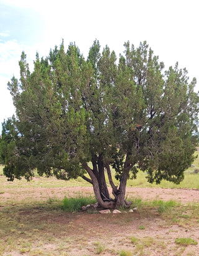
[(3, 187), (0, 222), (8, 216), (10, 218), (0, 230), (0, 254), (199, 255), (199, 245), (185, 247), (175, 244), (175, 239), (180, 237), (199, 243), (199, 210), (186, 206), (198, 204), (199, 190), (127, 188), (126, 194), (130, 198), (175, 200), (182, 204), (178, 207), (179, 212), (164, 214), (159, 214), (154, 207), (132, 213), (101, 215), (96, 212), (63, 212), (56, 208), (56, 202), (49, 204), (49, 210), (39, 206), (40, 202), (49, 199), (79, 194), (94, 195), (93, 188)]

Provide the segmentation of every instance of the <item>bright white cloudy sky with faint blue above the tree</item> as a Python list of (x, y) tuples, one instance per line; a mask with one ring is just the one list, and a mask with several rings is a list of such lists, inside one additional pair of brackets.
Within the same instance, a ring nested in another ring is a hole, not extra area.
[[(85, 56), (95, 39), (123, 54), (124, 42), (147, 41), (165, 67), (186, 67), (199, 90), (198, 0), (0, 0), (0, 125), (15, 110), (7, 82), (19, 78), (22, 51), (30, 70), (36, 52), (75, 42)], [(0, 126), (1, 133), (1, 126)]]

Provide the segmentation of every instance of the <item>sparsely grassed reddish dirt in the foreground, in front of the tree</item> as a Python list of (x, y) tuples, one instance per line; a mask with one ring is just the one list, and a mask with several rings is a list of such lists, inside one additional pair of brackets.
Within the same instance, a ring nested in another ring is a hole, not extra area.
[(175, 215), (154, 209), (101, 215), (39, 207), (18, 209), (14, 217), (15, 207), (9, 211), (17, 219), (11, 237), (0, 232), (0, 241), (7, 244), (1, 255), (199, 255), (198, 245), (175, 244), (180, 237), (199, 242), (199, 224), (193, 217), (178, 216), (175, 221)]

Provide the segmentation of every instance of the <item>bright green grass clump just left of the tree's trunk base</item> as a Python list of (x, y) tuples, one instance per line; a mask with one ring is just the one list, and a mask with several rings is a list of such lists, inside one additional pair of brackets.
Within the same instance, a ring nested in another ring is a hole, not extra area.
[(81, 210), (82, 206), (86, 206), (88, 204), (95, 204), (96, 199), (94, 197), (70, 197), (63, 199), (62, 209), (67, 212), (78, 212)]

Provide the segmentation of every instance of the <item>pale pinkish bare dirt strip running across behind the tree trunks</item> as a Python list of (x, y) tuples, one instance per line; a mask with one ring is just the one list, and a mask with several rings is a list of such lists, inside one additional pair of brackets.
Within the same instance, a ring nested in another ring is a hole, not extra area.
[[(111, 194), (111, 189), (109, 190)], [(39, 201), (45, 199), (62, 199), (65, 196), (75, 197), (76, 195), (94, 195), (93, 187), (55, 187), (55, 188), (15, 188), (4, 189), (4, 194), (1, 196), (1, 203), (11, 202), (27, 202), (31, 200)], [(138, 188), (127, 187), (127, 197), (136, 197), (142, 200), (175, 200), (182, 204), (199, 202), (199, 190), (194, 189), (153, 189), (153, 188)]]

